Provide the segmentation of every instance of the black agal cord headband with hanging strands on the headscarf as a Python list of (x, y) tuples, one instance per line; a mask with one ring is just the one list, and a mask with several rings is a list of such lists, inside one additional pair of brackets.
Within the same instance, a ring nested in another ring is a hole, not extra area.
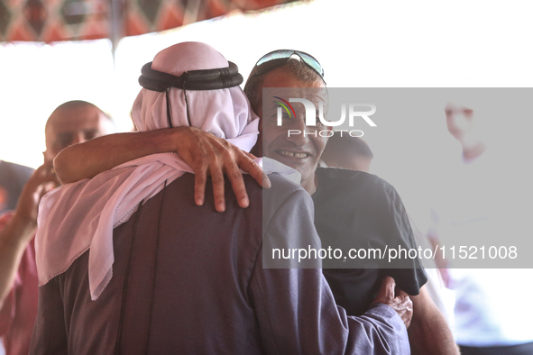
[(172, 119), (170, 116), (170, 87), (183, 89), (185, 94), (185, 105), (187, 106), (187, 120), (190, 123), (190, 114), (188, 113), (187, 90), (218, 90), (228, 87), (239, 86), (243, 83), (243, 76), (239, 74), (239, 68), (228, 61), (229, 67), (216, 69), (203, 69), (186, 71), (179, 77), (169, 73), (152, 69), (152, 61), (142, 66), (139, 84), (142, 87), (160, 93), (165, 92), (167, 99), (167, 120), (169, 127), (172, 128)]

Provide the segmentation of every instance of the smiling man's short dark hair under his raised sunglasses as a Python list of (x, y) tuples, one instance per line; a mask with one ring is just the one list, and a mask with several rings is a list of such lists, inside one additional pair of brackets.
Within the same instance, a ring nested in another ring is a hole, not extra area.
[(248, 77), (246, 85), (244, 86), (244, 94), (246, 94), (246, 96), (248, 97), (250, 105), (252, 106), (252, 109), (256, 114), (260, 114), (257, 112), (257, 109), (259, 105), (261, 105), (262, 101), (262, 83), (264, 82), (264, 78), (277, 70), (282, 70), (285, 73), (292, 75), (293, 77), (301, 81), (303, 84), (312, 85), (317, 82), (324, 82), (322, 77), (320, 77), (315, 70), (309, 68), (303, 60), (293, 58), (287, 60), (287, 62), (281, 65), (280, 67), (274, 68), (271, 71), (267, 71), (262, 75)]

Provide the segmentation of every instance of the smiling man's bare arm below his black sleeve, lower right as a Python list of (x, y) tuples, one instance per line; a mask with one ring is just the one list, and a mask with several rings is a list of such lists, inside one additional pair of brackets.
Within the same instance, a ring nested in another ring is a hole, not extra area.
[(425, 287), (413, 301), (413, 319), (409, 326), (412, 354), (458, 355), (446, 318), (433, 303)]

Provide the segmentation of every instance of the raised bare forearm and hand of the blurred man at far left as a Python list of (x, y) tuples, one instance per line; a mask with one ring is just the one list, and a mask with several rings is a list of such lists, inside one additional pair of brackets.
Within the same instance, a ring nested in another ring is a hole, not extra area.
[(37, 229), (37, 211), (41, 197), (56, 184), (50, 164), (35, 170), (23, 188), (13, 218), (0, 232), (0, 308), (13, 287), (24, 250)]

